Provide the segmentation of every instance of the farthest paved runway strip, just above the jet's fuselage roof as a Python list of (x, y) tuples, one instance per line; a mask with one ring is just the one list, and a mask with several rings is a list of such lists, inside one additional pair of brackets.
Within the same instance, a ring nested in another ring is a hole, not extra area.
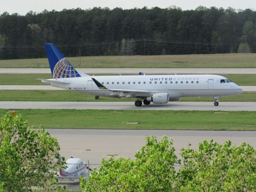
[[(88, 74), (256, 74), (256, 68), (78, 68)], [(50, 68), (1, 68), (0, 74), (47, 74)]]

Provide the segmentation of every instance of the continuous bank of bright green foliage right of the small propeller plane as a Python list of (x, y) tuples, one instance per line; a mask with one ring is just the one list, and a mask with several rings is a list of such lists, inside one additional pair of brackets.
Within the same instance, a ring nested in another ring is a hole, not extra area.
[[(189, 145), (190, 146), (190, 145)], [(174, 154), (172, 140), (164, 136), (146, 137), (146, 145), (135, 160), (119, 157), (102, 160), (88, 182), (80, 182), (82, 191), (255, 191), (256, 150), (249, 144), (222, 145), (210, 140), (199, 143), (198, 150), (182, 148), (184, 167)]]

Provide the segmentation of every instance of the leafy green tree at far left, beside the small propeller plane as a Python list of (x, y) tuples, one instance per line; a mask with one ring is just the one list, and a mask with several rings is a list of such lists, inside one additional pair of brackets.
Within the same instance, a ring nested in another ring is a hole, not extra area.
[[(44, 128), (28, 127), (21, 116), (0, 117), (0, 188), (4, 191), (31, 191), (32, 186), (50, 189), (56, 174), (60, 147)], [(64, 158), (62, 158), (64, 160)]]

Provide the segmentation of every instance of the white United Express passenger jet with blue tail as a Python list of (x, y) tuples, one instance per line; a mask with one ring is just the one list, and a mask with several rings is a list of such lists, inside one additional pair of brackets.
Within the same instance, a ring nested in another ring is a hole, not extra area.
[(54, 44), (45, 44), (52, 79), (38, 79), (44, 84), (95, 96), (135, 98), (135, 106), (166, 104), (182, 97), (208, 96), (218, 106), (220, 96), (243, 92), (242, 88), (224, 76), (196, 75), (140, 75), (90, 76), (78, 72)]

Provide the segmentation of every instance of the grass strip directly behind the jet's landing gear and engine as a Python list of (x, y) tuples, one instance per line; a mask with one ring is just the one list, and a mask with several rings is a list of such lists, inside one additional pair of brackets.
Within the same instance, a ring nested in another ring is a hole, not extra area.
[[(135, 101), (134, 98), (100, 97), (71, 90), (0, 90), (0, 101)], [(213, 97), (184, 97), (182, 101), (214, 101)], [(223, 96), (222, 101), (254, 101), (256, 92), (244, 92), (234, 96)]]

